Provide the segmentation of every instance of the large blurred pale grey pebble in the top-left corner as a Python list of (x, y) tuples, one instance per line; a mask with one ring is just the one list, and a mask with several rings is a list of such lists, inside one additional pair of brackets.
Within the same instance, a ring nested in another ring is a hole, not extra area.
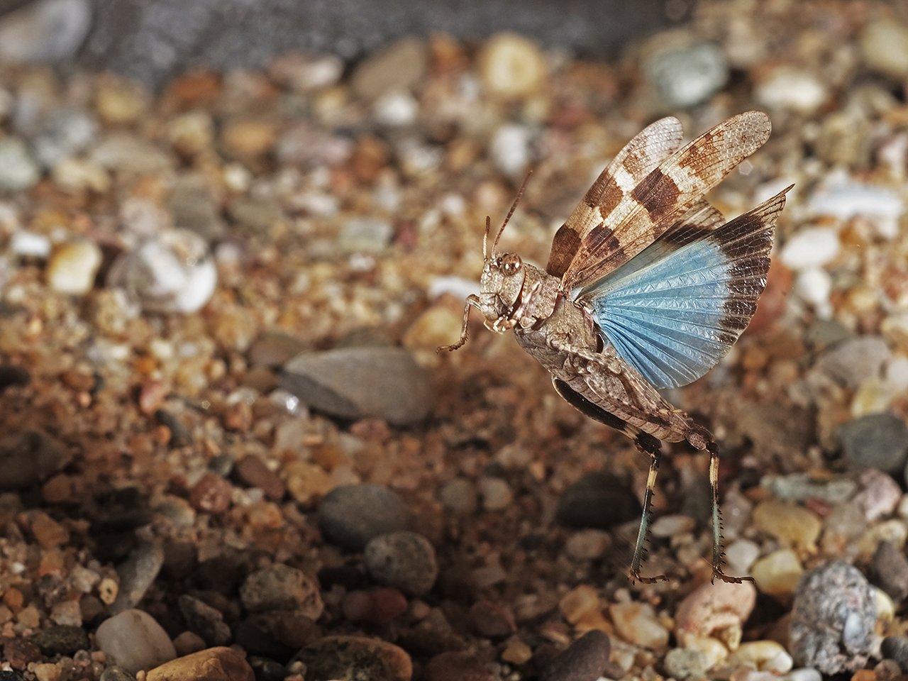
[(72, 58), (92, 27), (88, 0), (40, 0), (0, 21), (0, 58), (43, 64)]

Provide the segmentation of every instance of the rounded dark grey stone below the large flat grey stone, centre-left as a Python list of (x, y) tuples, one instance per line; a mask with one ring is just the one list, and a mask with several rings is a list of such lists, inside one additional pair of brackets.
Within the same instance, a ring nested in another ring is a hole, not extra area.
[(342, 485), (319, 503), (319, 529), (349, 551), (362, 551), (380, 535), (407, 529), (410, 512), (400, 497), (380, 485)]

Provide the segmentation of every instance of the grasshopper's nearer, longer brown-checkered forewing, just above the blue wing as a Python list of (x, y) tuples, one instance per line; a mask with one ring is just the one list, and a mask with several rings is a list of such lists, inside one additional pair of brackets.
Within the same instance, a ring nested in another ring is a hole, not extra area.
[[(596, 281), (655, 242), (759, 149), (770, 130), (766, 114), (738, 114), (669, 156), (587, 232), (562, 277), (562, 289)], [(707, 217), (715, 219), (711, 213)]]

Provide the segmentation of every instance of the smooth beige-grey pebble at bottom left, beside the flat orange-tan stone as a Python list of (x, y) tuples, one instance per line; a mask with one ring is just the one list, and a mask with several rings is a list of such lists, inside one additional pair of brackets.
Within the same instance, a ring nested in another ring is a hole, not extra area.
[(124, 610), (105, 619), (94, 637), (104, 655), (133, 674), (176, 657), (176, 649), (167, 632), (143, 610)]

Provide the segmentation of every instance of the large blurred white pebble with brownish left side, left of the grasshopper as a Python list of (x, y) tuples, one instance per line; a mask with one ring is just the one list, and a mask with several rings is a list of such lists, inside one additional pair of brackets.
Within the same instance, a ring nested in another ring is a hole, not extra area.
[(188, 230), (167, 230), (123, 253), (107, 285), (125, 289), (144, 311), (192, 314), (214, 293), (218, 274), (208, 244)]

